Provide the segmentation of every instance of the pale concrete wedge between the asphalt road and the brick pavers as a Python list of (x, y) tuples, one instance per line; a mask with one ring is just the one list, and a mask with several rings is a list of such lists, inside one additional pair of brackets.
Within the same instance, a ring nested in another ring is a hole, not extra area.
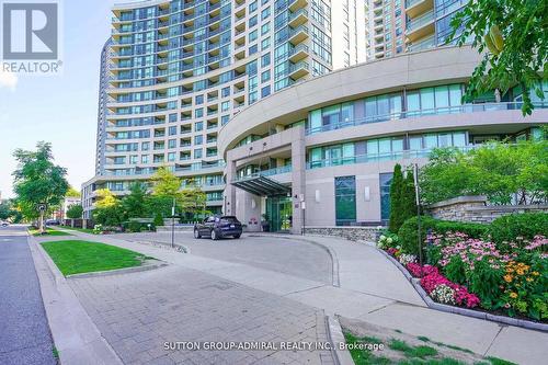
[(47, 321), (62, 365), (122, 365), (49, 255), (28, 237)]

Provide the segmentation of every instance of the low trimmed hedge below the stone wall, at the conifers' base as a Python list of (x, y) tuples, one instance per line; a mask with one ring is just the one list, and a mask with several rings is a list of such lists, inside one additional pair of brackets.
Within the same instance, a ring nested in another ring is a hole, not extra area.
[[(401, 226), (400, 230), (398, 231), (398, 237), (403, 252), (419, 254), (419, 243), (416, 237), (418, 230), (419, 224), (416, 217), (409, 218)], [(468, 235), (471, 238), (482, 238), (489, 233), (489, 226), (472, 223), (441, 220), (434, 219), (429, 216), (421, 216), (422, 244), (424, 244), (424, 240), (426, 239), (426, 233), (429, 232), (429, 230), (435, 231), (437, 233), (459, 231)]]

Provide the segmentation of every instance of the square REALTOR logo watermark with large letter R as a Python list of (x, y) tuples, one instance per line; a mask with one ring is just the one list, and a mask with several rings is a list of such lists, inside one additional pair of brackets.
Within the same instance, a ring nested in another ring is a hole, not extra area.
[(0, 0), (2, 65), (4, 72), (60, 72), (59, 1)]

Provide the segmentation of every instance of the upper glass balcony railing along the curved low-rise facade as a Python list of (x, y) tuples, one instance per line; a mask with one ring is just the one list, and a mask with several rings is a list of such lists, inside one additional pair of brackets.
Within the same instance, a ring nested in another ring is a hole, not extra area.
[[(406, 118), (420, 117), (426, 115), (463, 114), (463, 113), (478, 113), (478, 112), (492, 112), (492, 111), (517, 111), (522, 109), (522, 105), (523, 105), (522, 102), (484, 103), (484, 104), (465, 104), (457, 106), (436, 107), (436, 109), (420, 110), (420, 111), (397, 112), (391, 114), (366, 116), (364, 118), (355, 118), (352, 121), (344, 121), (335, 124), (308, 128), (306, 130), (306, 134), (312, 135), (316, 133), (335, 130), (363, 124), (406, 119)], [(534, 102), (533, 105), (535, 106), (535, 109), (548, 109), (548, 102)]]

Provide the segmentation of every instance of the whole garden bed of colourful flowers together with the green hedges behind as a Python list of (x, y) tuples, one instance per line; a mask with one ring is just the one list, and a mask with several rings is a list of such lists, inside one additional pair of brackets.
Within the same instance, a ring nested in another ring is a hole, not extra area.
[(423, 217), (377, 243), (436, 303), (548, 323), (548, 214), (503, 216), (491, 225)]

